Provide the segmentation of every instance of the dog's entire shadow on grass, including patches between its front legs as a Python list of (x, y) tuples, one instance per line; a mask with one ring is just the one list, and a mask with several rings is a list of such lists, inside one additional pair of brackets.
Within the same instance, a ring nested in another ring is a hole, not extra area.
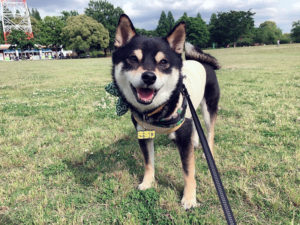
[[(96, 144), (92, 148), (93, 154), (87, 153), (83, 161), (65, 160), (64, 163), (69, 171), (73, 173), (75, 181), (85, 186), (92, 185), (101, 173), (107, 174), (122, 169), (128, 170), (131, 175), (136, 175), (141, 181), (144, 175), (144, 161), (135, 137), (136, 133), (133, 131), (110, 146), (101, 147)], [(164, 145), (166, 143), (165, 139), (158, 138), (156, 145)], [(100, 141), (97, 143), (100, 143)], [(156, 174), (156, 180), (159, 185), (171, 186), (177, 191), (183, 189), (181, 183), (170, 180), (167, 174), (161, 174), (161, 172)]]

